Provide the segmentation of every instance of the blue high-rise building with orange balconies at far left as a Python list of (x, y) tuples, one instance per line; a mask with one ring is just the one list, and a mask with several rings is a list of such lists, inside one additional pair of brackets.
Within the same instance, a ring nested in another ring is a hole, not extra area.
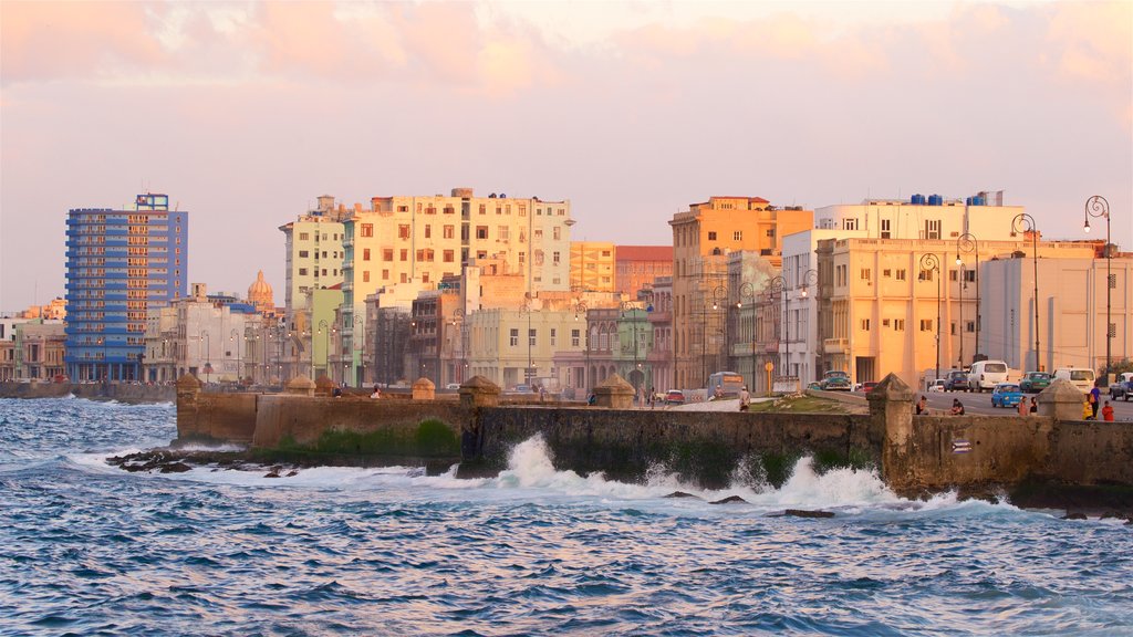
[(138, 195), (131, 210), (67, 214), (67, 375), (73, 381), (142, 380), (146, 312), (184, 297), (188, 213), (165, 195)]

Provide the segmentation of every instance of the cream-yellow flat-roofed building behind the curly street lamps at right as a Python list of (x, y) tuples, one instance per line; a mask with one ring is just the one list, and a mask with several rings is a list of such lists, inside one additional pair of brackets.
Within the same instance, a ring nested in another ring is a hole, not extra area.
[[(892, 372), (923, 387), (926, 379), (970, 365), (977, 354), (1002, 350), (996, 346), (1004, 334), (989, 328), (1005, 320), (994, 299), (1010, 288), (998, 287), (988, 273), (1005, 260), (1030, 264), (1026, 239), (979, 241), (978, 269), (976, 250), (959, 253), (955, 240), (820, 240), (819, 271), (828, 267), (832, 277), (829, 321), (818, 318), (820, 326), (828, 325), (819, 332), (823, 371), (845, 371), (854, 382), (879, 381)], [(1091, 254), (1092, 247), (1080, 243), (1039, 244), (1040, 265)], [(932, 258), (936, 267), (925, 267)], [(1024, 362), (1016, 357), (1008, 364), (1020, 370)]]

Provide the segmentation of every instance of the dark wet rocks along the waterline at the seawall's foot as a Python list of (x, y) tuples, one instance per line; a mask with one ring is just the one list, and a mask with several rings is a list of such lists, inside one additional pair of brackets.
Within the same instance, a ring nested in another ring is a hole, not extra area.
[[(130, 473), (178, 474), (197, 467), (211, 467), (213, 470), (239, 470), (259, 473), (263, 477), (279, 478), (298, 475), (301, 469), (320, 466), (380, 467), (402, 465), (390, 459), (377, 459), (372, 456), (335, 456), (333, 462), (329, 458), (288, 457), (286, 455), (263, 451), (219, 451), (188, 449), (151, 449), (107, 459), (107, 464)], [(429, 465), (419, 459), (404, 458), (409, 465), (423, 466), (426, 475), (441, 475), (449, 466)], [(927, 496), (930, 494), (921, 494)], [(1007, 501), (1021, 509), (1064, 510), (1063, 519), (1124, 519), (1133, 526), (1133, 490), (1127, 487), (1107, 486), (1070, 486), (1050, 482), (1026, 482), (1005, 489), (1002, 485), (987, 485), (979, 490), (965, 490), (959, 494), (961, 500), (983, 500), (987, 502)], [(700, 499), (698, 495), (674, 491), (665, 498)], [(722, 500), (710, 501), (710, 504), (746, 504), (747, 500), (731, 495)], [(770, 513), (768, 517), (807, 517), (827, 518), (835, 513), (821, 510), (786, 509)]]

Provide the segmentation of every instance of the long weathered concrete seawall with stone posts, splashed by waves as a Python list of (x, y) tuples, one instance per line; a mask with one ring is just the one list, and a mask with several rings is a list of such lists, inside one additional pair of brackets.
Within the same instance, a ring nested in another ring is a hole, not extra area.
[(811, 455), (820, 468), (877, 466), (902, 494), (1034, 479), (1133, 486), (1133, 423), (1067, 418), (1081, 414), (1077, 393), (1043, 392), (1040, 416), (940, 417), (913, 416), (913, 392), (895, 376), (870, 392), (869, 415), (500, 405), (499, 389), (485, 383), (462, 388), (459, 401), (370, 400), (314, 396), (313, 384), (301, 393), (214, 394), (182, 379), (178, 435), (335, 460), (459, 461), (465, 475), (505, 468), (511, 449), (538, 434), (555, 468), (623, 481), (664, 465), (705, 486), (726, 484), (736, 467), (777, 484), (794, 458)]

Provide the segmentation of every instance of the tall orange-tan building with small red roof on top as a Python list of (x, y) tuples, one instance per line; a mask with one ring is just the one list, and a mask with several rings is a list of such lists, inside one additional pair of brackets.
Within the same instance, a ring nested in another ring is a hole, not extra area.
[(727, 256), (750, 250), (782, 264), (782, 237), (813, 226), (801, 206), (780, 209), (760, 197), (712, 197), (668, 222), (673, 228), (674, 384), (702, 388), (713, 366), (729, 363)]

